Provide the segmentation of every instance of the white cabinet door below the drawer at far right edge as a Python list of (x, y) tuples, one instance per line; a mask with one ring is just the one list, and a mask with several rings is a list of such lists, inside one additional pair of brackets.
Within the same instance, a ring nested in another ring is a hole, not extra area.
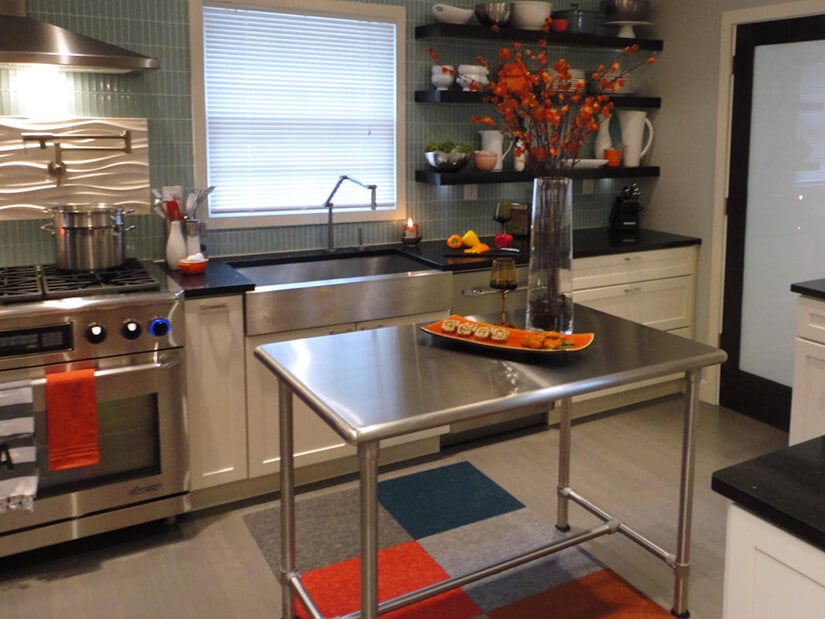
[(788, 443), (825, 434), (825, 345), (796, 338)]

